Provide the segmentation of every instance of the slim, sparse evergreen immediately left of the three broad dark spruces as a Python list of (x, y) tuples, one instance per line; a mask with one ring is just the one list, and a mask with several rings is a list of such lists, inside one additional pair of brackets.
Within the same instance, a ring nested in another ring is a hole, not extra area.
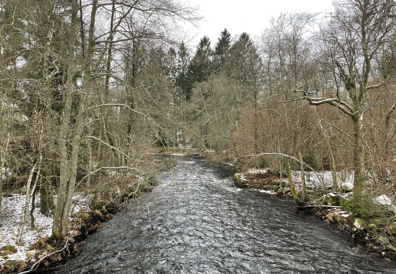
[(179, 50), (177, 51), (177, 57), (177, 74), (175, 84), (181, 89), (181, 93), (185, 99), (188, 100), (190, 94), (190, 80), (188, 78), (190, 55), (188, 55), (184, 42), (181, 42), (180, 44)]

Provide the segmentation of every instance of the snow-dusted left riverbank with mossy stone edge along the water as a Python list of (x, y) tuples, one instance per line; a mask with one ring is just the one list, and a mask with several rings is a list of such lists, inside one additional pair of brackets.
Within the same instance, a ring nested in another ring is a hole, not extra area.
[[(173, 166), (172, 161), (167, 160), (161, 162), (158, 168), (166, 170)], [(85, 244), (88, 235), (95, 233), (102, 223), (111, 220), (119, 209), (126, 206), (128, 200), (150, 192), (158, 183), (156, 179), (144, 182), (141, 180), (143, 178), (139, 177), (137, 182), (129, 183), (122, 189), (114, 185), (110, 192), (101, 193), (99, 196), (78, 190), (72, 201), (72, 228), (66, 233), (63, 242), (51, 240), (53, 214), (40, 212), (40, 195), (36, 195), (35, 209), (32, 212), (34, 226), (29, 215), (23, 241), (15, 244), (26, 195), (16, 193), (23, 190), (3, 195), (0, 213), (0, 272), (19, 273), (30, 269), (51, 269), (51, 266), (75, 253), (80, 245)], [(54, 195), (53, 198), (56, 204), (57, 196)], [(32, 200), (29, 202), (29, 212), (31, 204)]]

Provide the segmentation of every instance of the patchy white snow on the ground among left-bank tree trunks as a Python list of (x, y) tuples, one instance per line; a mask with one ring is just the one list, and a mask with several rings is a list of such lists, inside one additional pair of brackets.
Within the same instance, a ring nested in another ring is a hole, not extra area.
[[(89, 199), (86, 198), (85, 193), (76, 193), (73, 196), (72, 216), (80, 209), (84, 211), (89, 210)], [(0, 257), (0, 265), (8, 260), (21, 261), (25, 258), (34, 255), (36, 250), (29, 250), (32, 244), (38, 242), (40, 238), (50, 236), (52, 232), (53, 215), (44, 215), (40, 213), (40, 195), (36, 195), (36, 208), (34, 209), (34, 228), (30, 226), (30, 216), (25, 225), (23, 234), (23, 242), (15, 245), (18, 234), (19, 220), (25, 205), (25, 194), (12, 194), (8, 197), (2, 197), (1, 213), (0, 213), (0, 248), (4, 245), (12, 245), (16, 249), (16, 253)], [(56, 196), (54, 196), (56, 203)], [(30, 212), (29, 204), (29, 212)]]

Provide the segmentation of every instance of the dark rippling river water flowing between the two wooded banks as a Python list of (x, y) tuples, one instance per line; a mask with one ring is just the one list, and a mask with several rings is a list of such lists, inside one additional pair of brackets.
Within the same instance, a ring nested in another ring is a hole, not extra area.
[(293, 201), (241, 190), (204, 160), (179, 160), (55, 273), (395, 273)]

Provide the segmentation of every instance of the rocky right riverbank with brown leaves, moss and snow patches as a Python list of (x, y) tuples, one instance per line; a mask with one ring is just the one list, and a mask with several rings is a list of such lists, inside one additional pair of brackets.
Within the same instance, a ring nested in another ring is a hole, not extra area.
[[(301, 193), (301, 173), (292, 171), (291, 175), (297, 192)], [(333, 189), (331, 171), (322, 171), (318, 175), (321, 180), (316, 175), (306, 174), (305, 182), (310, 199), (304, 209), (348, 232), (352, 240), (358, 240), (369, 251), (396, 259), (396, 205), (392, 202), (394, 199), (386, 194), (373, 198), (371, 204), (383, 214), (362, 216), (355, 212), (350, 203), (353, 194), (353, 173), (346, 174), (343, 180), (338, 179), (340, 187), (337, 192)], [(234, 181), (242, 188), (293, 198), (287, 178), (267, 169), (249, 169), (243, 173), (235, 173)]]

